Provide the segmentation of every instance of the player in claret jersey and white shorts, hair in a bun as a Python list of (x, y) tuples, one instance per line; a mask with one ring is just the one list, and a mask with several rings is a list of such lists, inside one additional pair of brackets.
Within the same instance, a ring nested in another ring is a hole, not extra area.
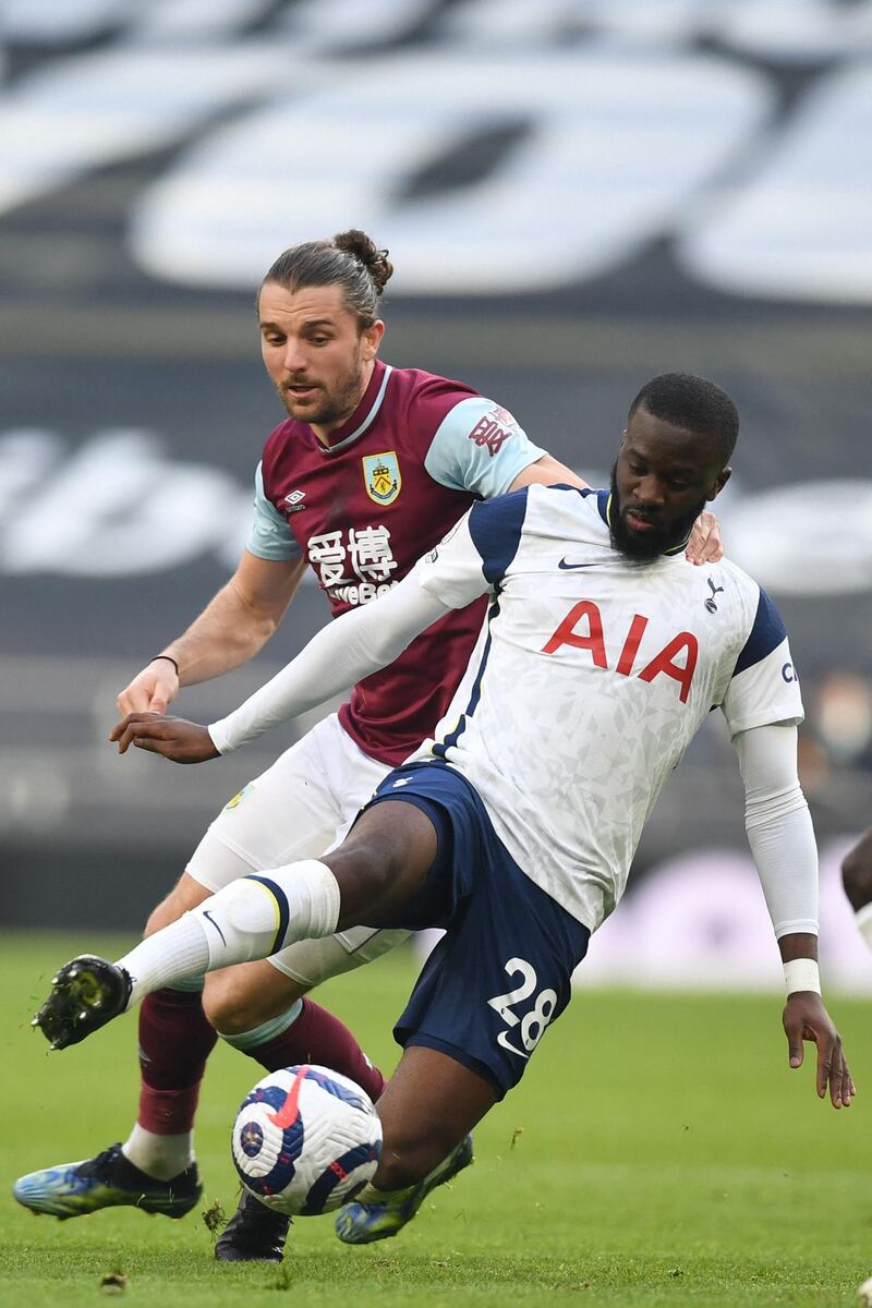
[[(192, 627), (120, 695), (122, 713), (163, 712), (180, 685), (256, 654), (309, 564), (333, 616), (390, 591), (478, 498), (533, 481), (583, 485), (535, 446), (511, 413), (469, 386), (378, 358), (387, 251), (361, 232), (285, 251), (258, 297), (267, 373), (288, 412), (256, 473), (255, 521), (235, 576)], [(718, 556), (701, 532), (697, 559)], [(433, 731), (481, 627), (484, 598), (424, 633), (214, 820), (146, 934), (252, 871), (322, 854), (395, 764)], [(350, 683), (346, 683), (346, 685)], [(120, 1203), (180, 1216), (200, 1180), (192, 1125), (216, 1031), (267, 1069), (320, 1062), (377, 1099), (383, 1078), (354, 1037), (310, 999), (405, 931), (357, 927), (269, 961), (149, 995), (140, 1014), (141, 1095), (128, 1139), (84, 1163), (22, 1177), (16, 1197), (76, 1216)], [(288, 1219), (243, 1198), (218, 1258), (281, 1258)]]

